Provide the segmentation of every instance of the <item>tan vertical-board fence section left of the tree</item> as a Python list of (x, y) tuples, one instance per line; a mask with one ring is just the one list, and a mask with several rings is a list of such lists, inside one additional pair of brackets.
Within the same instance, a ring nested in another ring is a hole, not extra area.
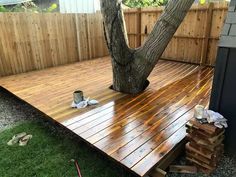
[(101, 14), (1, 13), (0, 76), (108, 55)]

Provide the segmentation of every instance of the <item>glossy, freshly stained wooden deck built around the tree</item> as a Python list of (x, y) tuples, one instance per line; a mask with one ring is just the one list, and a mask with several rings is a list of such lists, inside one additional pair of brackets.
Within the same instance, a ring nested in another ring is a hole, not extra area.
[[(185, 137), (196, 104), (207, 105), (213, 69), (159, 61), (139, 95), (114, 92), (109, 57), (0, 78), (0, 85), (139, 176)], [(74, 90), (100, 104), (70, 108)]]

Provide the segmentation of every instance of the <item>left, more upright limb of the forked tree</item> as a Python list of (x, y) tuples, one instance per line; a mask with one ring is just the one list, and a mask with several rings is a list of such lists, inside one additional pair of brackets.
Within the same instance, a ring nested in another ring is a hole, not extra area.
[(101, 9), (112, 59), (119, 65), (125, 66), (132, 61), (133, 50), (128, 46), (121, 2), (119, 0), (101, 0)]

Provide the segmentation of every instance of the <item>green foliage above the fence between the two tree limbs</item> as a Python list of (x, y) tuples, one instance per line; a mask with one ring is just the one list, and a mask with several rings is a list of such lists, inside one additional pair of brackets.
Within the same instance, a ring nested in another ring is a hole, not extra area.
[(164, 6), (168, 0), (123, 0), (128, 7), (148, 7), (148, 6)]

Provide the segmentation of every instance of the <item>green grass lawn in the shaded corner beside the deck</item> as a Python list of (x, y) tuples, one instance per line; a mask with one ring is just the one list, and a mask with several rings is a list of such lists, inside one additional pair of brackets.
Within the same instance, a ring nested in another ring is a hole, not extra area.
[[(27, 146), (6, 144), (14, 134), (24, 131), (33, 135)], [(4, 130), (0, 133), (0, 176), (76, 177), (75, 166), (69, 161), (77, 159), (83, 177), (131, 177), (113, 161), (70, 137), (43, 122), (26, 122)]]

